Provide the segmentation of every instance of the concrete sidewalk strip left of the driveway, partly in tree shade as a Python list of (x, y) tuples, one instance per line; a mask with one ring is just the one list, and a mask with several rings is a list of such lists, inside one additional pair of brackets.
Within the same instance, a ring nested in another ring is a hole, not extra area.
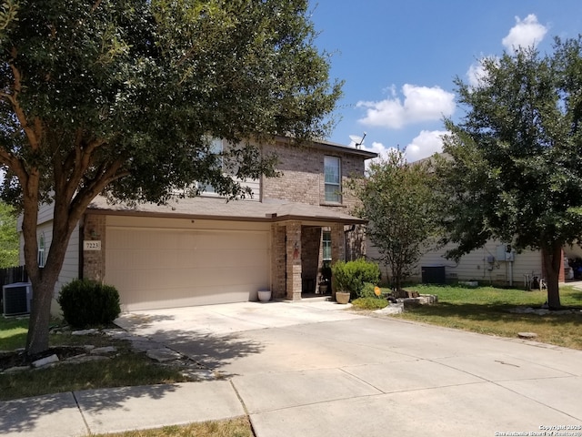
[(4, 437), (80, 437), (244, 416), (230, 381), (122, 387), (0, 402)]

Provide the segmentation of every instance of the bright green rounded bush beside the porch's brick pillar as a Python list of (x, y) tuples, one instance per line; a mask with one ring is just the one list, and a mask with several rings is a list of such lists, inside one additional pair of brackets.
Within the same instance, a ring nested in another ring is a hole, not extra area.
[[(349, 291), (352, 300), (359, 297), (366, 282), (377, 284), (380, 280), (378, 265), (363, 258), (347, 262), (336, 261), (331, 269), (336, 291)], [(372, 291), (374, 290), (372, 289)]]

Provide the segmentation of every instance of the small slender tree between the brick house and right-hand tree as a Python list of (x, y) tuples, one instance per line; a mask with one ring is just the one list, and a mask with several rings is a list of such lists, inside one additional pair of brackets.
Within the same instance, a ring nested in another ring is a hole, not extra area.
[(361, 206), (356, 213), (369, 220), (366, 235), (382, 261), (390, 268), (392, 288), (402, 283), (416, 266), (437, 232), (434, 175), (429, 161), (407, 163), (404, 154), (392, 150), (372, 162), (366, 177), (354, 188)]

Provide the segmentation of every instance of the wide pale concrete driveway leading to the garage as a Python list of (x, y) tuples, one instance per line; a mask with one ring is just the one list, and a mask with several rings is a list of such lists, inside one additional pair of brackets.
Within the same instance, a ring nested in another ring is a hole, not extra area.
[(118, 321), (224, 375), (259, 437), (582, 436), (582, 351), (344, 309), (246, 302)]

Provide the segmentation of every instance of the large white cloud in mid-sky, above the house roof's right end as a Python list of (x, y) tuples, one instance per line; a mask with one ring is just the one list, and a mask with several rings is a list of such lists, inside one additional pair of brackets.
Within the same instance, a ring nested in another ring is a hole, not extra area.
[[(394, 88), (392, 88), (394, 89)], [(392, 93), (392, 98), (379, 102), (357, 102), (366, 108), (366, 117), (358, 121), (366, 126), (400, 128), (422, 121), (450, 117), (455, 112), (455, 95), (440, 86), (402, 86), (404, 102)]]

